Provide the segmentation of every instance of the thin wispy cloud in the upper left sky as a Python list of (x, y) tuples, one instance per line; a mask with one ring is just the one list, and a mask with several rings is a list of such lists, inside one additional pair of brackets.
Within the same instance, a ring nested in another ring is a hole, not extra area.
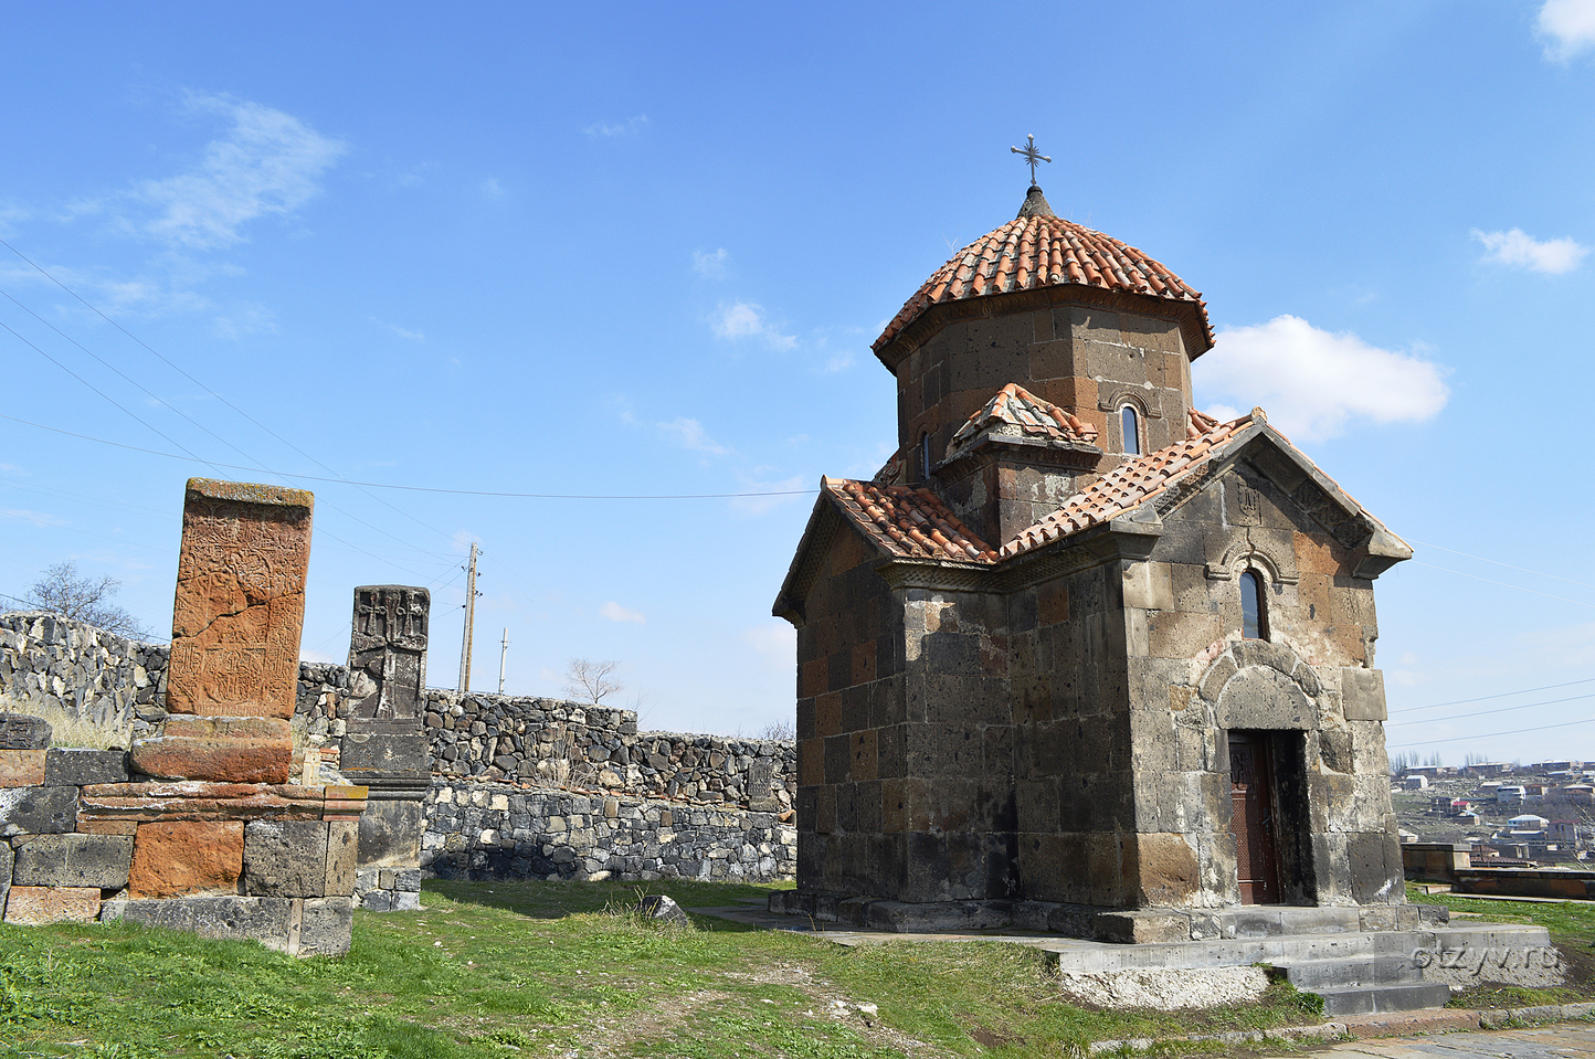
[(206, 145), (204, 158), (190, 172), (145, 180), (128, 196), (160, 211), (136, 226), (169, 242), (196, 249), (242, 242), (247, 236), (241, 230), (250, 220), (289, 215), (316, 196), (317, 179), (346, 150), (298, 118), (260, 104), (191, 96), (188, 105), (222, 115), (233, 128)]

